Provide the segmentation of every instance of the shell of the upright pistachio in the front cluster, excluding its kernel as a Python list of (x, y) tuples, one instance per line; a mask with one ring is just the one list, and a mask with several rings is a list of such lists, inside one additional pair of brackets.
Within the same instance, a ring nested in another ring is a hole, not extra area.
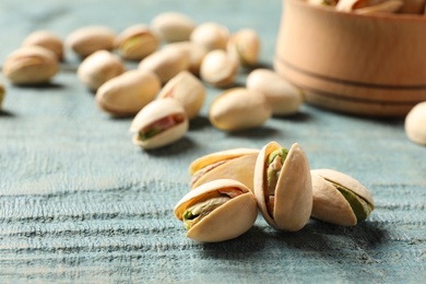
[(272, 214), (268, 210), (267, 175), (268, 159), (282, 146), (272, 141), (260, 151), (255, 168), (255, 194), (260, 212), (272, 227), (297, 232), (309, 221), (312, 210), (312, 184), (308, 158), (295, 143), (288, 151), (277, 177)]

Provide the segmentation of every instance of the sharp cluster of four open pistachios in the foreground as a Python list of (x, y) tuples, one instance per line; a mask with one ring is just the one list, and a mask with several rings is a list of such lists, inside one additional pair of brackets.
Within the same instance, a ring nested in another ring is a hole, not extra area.
[(272, 141), (261, 150), (232, 149), (208, 154), (189, 166), (191, 190), (175, 216), (187, 237), (200, 242), (236, 238), (249, 230), (258, 211), (272, 227), (300, 230), (310, 217), (355, 226), (374, 210), (370, 192), (334, 169), (310, 169), (303, 149)]

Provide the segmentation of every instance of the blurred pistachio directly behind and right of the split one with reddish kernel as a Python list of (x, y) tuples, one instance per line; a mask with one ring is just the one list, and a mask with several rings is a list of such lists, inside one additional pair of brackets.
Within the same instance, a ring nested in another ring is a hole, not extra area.
[(198, 78), (184, 70), (164, 85), (158, 98), (165, 97), (178, 100), (185, 108), (188, 119), (193, 119), (204, 104), (205, 90)]

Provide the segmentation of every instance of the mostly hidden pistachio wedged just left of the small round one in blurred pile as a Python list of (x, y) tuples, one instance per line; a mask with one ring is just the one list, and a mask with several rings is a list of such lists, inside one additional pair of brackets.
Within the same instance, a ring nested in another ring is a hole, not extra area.
[(208, 50), (192, 42), (179, 42), (165, 45), (164, 48), (181, 49), (184, 52), (189, 54), (189, 67), (188, 71), (194, 75), (200, 74), (201, 62), (208, 55)]

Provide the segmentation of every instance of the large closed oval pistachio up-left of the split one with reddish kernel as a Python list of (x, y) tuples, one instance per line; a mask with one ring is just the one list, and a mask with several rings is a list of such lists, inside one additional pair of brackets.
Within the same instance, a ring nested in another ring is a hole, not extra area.
[(132, 116), (154, 100), (159, 88), (153, 72), (130, 70), (104, 83), (96, 92), (96, 103), (114, 116)]

